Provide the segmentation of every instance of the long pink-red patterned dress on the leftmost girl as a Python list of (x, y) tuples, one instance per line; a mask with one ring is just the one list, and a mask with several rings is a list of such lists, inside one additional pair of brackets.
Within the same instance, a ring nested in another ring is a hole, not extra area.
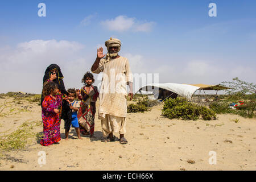
[(54, 109), (60, 109), (61, 96), (56, 95), (46, 96), (42, 102), (42, 119), (43, 119), (43, 133), (40, 144), (42, 146), (49, 146), (60, 141), (60, 117), (54, 112)]

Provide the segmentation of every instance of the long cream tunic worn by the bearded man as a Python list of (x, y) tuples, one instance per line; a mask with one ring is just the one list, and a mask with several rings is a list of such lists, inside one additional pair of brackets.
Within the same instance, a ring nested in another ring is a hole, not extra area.
[(93, 73), (103, 72), (100, 88), (100, 108), (98, 118), (105, 114), (126, 117), (127, 114), (127, 82), (133, 82), (129, 61), (125, 57), (100, 60), (98, 68)]

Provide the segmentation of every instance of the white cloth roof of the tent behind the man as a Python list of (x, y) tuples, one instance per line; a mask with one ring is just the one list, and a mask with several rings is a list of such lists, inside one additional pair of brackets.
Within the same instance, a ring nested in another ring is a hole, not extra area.
[(198, 86), (187, 85), (187, 84), (175, 84), (175, 83), (147, 84), (142, 86), (142, 88), (140, 88), (137, 92), (135, 92), (135, 94), (143, 90), (147, 92), (151, 91), (151, 92), (154, 92), (154, 94), (158, 95), (159, 88), (174, 92), (179, 96), (187, 98), (189, 101), (191, 101), (191, 97), (196, 92), (196, 90), (200, 89), (200, 87)]

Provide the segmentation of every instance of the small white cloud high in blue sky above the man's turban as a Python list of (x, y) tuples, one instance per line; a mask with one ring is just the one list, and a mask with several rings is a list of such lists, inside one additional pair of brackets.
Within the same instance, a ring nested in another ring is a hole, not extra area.
[(128, 18), (127, 16), (119, 15), (114, 19), (107, 19), (101, 22), (101, 25), (106, 27), (110, 31), (141, 31), (148, 32), (151, 31), (152, 27), (155, 25), (155, 22), (144, 22), (140, 23), (136, 18)]

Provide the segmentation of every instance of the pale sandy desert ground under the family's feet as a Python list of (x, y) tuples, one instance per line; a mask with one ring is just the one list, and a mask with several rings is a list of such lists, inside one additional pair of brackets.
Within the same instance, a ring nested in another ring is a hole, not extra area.
[[(0, 104), (3, 103), (0, 99)], [(13, 104), (0, 117), (0, 134), (10, 133), (25, 121), (40, 121), (40, 106), (23, 102)], [(27, 106), (27, 110), (22, 110)], [(98, 106), (98, 103), (97, 103)], [(31, 108), (30, 108), (31, 107)], [(61, 122), (59, 144), (41, 146), (36, 138), (26, 150), (9, 152), (0, 160), (0, 170), (255, 170), (256, 119), (239, 115), (218, 115), (216, 121), (182, 121), (161, 115), (163, 105), (145, 113), (127, 115), (129, 143), (103, 143), (100, 120), (96, 114), (96, 139), (77, 139), (71, 129), (69, 140), (64, 140)], [(97, 107), (98, 109), (98, 107)], [(239, 119), (236, 123), (232, 119)], [(35, 129), (43, 131), (43, 126)], [(115, 134), (118, 136), (118, 134)], [(119, 136), (118, 136), (119, 137)], [(229, 140), (230, 142), (225, 142)], [(38, 164), (39, 151), (46, 152), (46, 164)], [(210, 165), (209, 152), (216, 152), (217, 163)], [(195, 163), (188, 163), (194, 160)]]

